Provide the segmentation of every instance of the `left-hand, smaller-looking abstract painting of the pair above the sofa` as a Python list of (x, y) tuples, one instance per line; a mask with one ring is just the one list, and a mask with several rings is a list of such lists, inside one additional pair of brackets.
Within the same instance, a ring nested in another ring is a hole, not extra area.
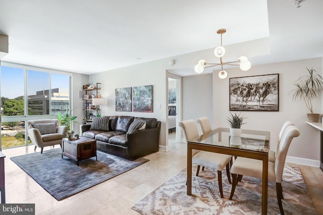
[(131, 112), (131, 87), (116, 89), (116, 111)]

